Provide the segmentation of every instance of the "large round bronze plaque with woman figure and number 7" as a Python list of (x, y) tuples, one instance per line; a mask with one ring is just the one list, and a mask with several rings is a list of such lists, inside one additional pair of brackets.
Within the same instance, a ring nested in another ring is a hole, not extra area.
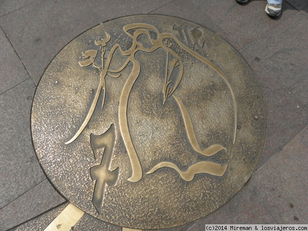
[(133, 15), (82, 33), (37, 87), (33, 144), (74, 205), (130, 228), (215, 211), (243, 187), (266, 129), (253, 71), (214, 32)]

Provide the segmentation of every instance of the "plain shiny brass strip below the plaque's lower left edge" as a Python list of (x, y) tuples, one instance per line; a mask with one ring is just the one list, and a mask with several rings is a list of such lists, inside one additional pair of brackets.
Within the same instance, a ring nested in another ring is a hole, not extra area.
[(44, 231), (69, 231), (84, 214), (83, 210), (69, 203)]

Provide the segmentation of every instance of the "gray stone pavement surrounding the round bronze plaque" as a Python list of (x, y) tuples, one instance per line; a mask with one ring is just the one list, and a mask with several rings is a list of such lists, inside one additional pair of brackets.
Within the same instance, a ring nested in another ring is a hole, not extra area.
[(266, 1), (124, 0), (0, 2), (0, 230), (66, 200), (35, 157), (30, 110), (49, 62), (83, 31), (131, 14), (165, 14), (205, 26), (241, 52), (255, 71), (267, 108), (267, 138), (256, 171), (204, 224), (308, 224), (308, 1), (287, 0), (277, 19)]

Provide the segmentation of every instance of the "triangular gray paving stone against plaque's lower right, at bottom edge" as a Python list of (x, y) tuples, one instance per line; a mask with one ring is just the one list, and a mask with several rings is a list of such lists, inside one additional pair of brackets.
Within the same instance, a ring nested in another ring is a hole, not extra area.
[(276, 224), (276, 221), (244, 186), (227, 204), (183, 230), (204, 231), (205, 224)]

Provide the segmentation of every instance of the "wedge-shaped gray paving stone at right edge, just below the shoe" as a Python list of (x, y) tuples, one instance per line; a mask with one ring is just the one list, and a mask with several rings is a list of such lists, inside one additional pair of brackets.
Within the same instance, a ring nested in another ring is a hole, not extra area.
[(296, 99), (308, 104), (308, 13), (301, 11), (245, 49)]

